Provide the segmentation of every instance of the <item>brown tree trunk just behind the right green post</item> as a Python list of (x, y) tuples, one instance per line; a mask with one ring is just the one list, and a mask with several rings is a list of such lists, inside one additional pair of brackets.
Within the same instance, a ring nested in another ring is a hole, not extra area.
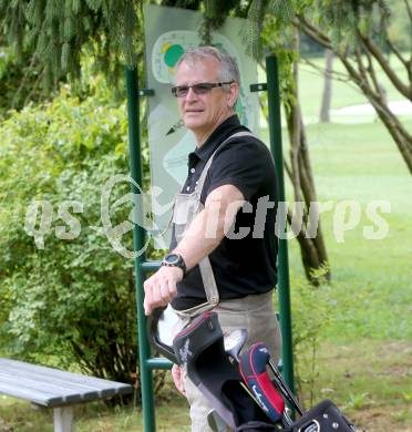
[[(299, 34), (297, 29), (293, 32), (293, 50), (296, 52), (299, 50)], [(293, 187), (295, 202), (301, 206), (302, 217), (301, 224), (299, 220), (298, 227), (293, 224), (292, 212), (288, 212), (288, 220), (299, 241), (306, 276), (311, 284), (318, 285), (320, 278), (319, 271), (321, 271), (322, 278), (330, 280), (330, 269), (320, 227), (315, 181), (299, 102), (298, 73), (298, 62), (295, 62), (295, 88), (291, 84), (288, 89), (287, 93), (291, 96), (285, 103), (285, 111), (290, 140), (290, 167), (287, 166), (287, 172)], [(316, 233), (310, 233), (313, 224), (317, 224)]]

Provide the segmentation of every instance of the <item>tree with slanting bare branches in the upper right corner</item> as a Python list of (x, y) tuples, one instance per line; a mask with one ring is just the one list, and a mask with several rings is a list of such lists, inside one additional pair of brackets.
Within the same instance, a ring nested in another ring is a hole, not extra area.
[[(403, 1), (412, 24), (412, 6)], [(388, 105), (387, 91), (378, 78), (380, 70), (390, 84), (412, 101), (412, 38), (409, 54), (402, 52), (389, 32), (391, 9), (383, 0), (316, 0), (312, 8), (293, 19), (293, 25), (329, 49), (342, 62), (349, 80), (368, 97), (388, 128), (412, 174), (412, 135)], [(390, 56), (401, 64), (392, 68)]]

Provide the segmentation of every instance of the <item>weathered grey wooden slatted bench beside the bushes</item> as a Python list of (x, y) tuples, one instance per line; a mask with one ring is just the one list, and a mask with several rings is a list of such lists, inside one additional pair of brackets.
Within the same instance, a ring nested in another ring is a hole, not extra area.
[(74, 404), (132, 392), (121, 382), (0, 358), (0, 393), (52, 408), (55, 432), (74, 431)]

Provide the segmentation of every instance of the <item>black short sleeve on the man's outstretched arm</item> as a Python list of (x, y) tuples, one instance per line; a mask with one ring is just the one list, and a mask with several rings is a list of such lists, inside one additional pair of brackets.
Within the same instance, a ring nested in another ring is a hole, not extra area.
[(233, 185), (249, 200), (261, 188), (268, 169), (274, 169), (272, 164), (270, 152), (259, 141), (228, 143), (210, 165), (206, 196), (219, 186)]

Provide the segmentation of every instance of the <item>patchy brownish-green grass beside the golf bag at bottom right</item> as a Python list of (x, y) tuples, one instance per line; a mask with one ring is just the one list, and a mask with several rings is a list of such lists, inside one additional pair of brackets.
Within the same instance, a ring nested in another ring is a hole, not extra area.
[(359, 430), (412, 431), (411, 341), (330, 340), (319, 364), (316, 400), (336, 401)]

